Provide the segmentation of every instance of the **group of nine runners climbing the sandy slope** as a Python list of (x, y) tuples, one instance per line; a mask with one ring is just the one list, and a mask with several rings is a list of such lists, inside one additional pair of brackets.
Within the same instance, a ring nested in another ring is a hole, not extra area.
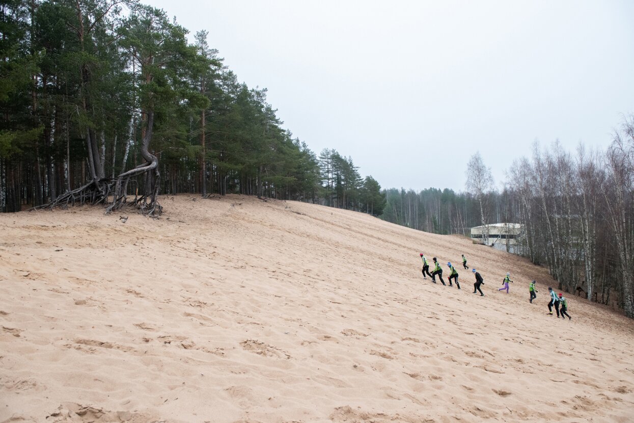
[[(427, 257), (425, 257), (425, 254), (421, 252), (420, 258), (423, 261), (423, 270), (422, 270), (423, 278), (427, 279), (427, 277), (429, 276), (432, 279), (432, 282), (437, 283), (436, 277), (438, 277), (440, 282), (443, 285), (446, 285), (443, 279), (443, 268), (441, 268), (441, 265), (436, 259), (436, 257), (433, 257), (432, 263), (429, 263), (429, 261), (427, 261)], [(431, 273), (429, 273), (430, 264), (433, 266)], [(463, 268), (469, 270), (469, 266), (467, 266), (467, 257), (465, 257), (464, 254), (462, 254), (462, 266)], [(453, 282), (456, 283), (456, 287), (460, 289), (460, 283), (458, 283), (458, 271), (453, 266), (453, 264), (451, 264), (451, 262), (447, 263), (447, 267), (449, 268), (449, 286), (453, 287), (453, 283), (452, 283), (452, 280), (453, 280)], [(471, 271), (475, 275), (473, 293), (477, 294), (479, 292), (480, 296), (484, 297), (484, 292), (482, 292), (482, 289), (480, 289), (480, 286), (484, 285), (484, 279), (482, 278), (482, 275), (480, 275), (480, 273), (475, 270), (475, 268), (473, 268)], [(502, 280), (502, 287), (498, 289), (498, 291), (505, 290), (508, 294), (508, 291), (510, 290), (510, 287), (508, 284), (512, 282), (513, 281), (511, 280), (511, 274), (507, 272), (507, 275)], [(529, 301), (531, 304), (533, 304), (533, 300), (537, 297), (537, 289), (535, 289), (535, 281), (531, 282), (530, 285), (528, 286), (528, 292), (530, 296)], [(548, 287), (548, 292), (550, 294), (550, 303), (548, 303), (548, 315), (550, 316), (553, 315), (553, 306), (554, 306), (555, 311), (557, 311), (557, 318), (561, 317), (562, 319), (565, 319), (567, 317), (569, 320), (572, 320), (571, 316), (567, 313), (568, 301), (566, 300), (566, 297), (564, 297), (561, 292), (559, 292), (559, 294), (555, 294), (555, 291), (553, 291), (552, 287)]]

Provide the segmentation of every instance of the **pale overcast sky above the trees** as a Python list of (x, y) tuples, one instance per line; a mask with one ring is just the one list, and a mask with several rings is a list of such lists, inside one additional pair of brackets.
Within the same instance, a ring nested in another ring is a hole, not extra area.
[(534, 140), (605, 148), (634, 112), (634, 1), (143, 3), (383, 188), (463, 191), (478, 150), (499, 185)]

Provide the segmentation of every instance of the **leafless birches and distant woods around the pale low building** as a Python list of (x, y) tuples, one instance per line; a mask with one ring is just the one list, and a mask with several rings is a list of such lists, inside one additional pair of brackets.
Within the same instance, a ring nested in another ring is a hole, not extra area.
[(604, 152), (535, 144), (533, 157), (508, 169), (501, 192), (482, 162), (479, 153), (470, 160), (469, 193), (386, 190), (382, 218), (462, 235), (482, 223), (521, 223), (517, 252), (548, 266), (559, 289), (616, 304), (634, 318), (634, 117), (623, 120)]

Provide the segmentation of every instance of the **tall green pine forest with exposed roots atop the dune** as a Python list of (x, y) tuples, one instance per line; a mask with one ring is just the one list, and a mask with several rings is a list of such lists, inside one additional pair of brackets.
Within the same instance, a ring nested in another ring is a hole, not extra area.
[(242, 193), (378, 215), (351, 157), (320, 157), (240, 83), (207, 32), (129, 0), (0, 4), (0, 210), (161, 211), (159, 193)]

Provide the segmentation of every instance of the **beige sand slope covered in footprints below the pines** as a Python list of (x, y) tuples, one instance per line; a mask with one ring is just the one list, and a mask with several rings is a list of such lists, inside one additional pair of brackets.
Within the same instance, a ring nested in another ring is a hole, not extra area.
[(544, 268), (319, 205), (161, 202), (0, 214), (0, 422), (634, 421), (634, 322), (548, 316)]

